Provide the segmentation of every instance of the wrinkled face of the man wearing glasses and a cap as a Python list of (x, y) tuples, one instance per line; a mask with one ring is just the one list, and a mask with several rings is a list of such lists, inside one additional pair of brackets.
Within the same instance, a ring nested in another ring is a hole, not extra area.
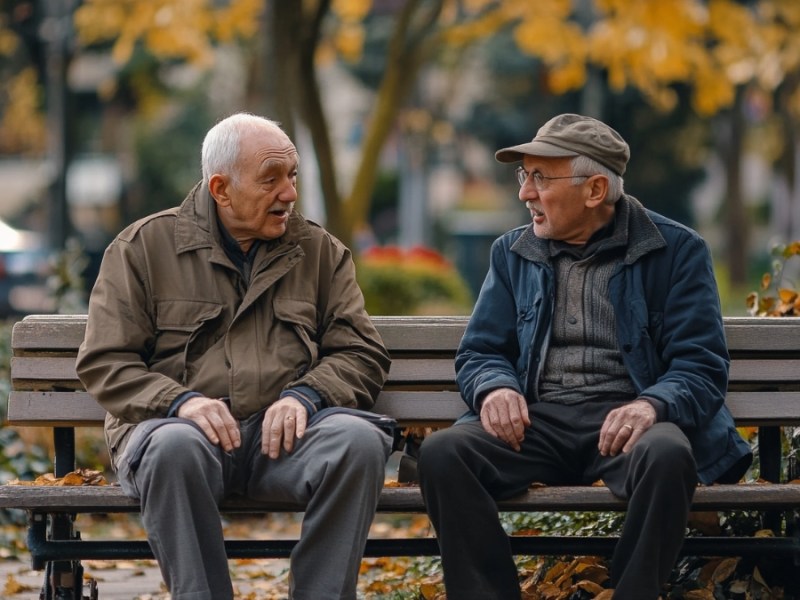
[[(570, 158), (525, 156), (522, 166), (529, 173), (545, 177), (572, 175)], [(537, 237), (584, 244), (598, 229), (594, 203), (590, 202), (591, 179), (545, 180), (543, 190), (533, 184), (532, 177), (519, 190), (519, 199), (531, 212), (533, 232)]]

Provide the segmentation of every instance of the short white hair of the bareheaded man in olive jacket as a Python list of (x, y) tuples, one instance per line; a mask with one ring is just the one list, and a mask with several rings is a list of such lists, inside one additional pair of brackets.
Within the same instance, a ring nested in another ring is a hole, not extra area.
[(203, 140), (201, 164), (203, 167), (203, 185), (215, 173), (229, 175), (234, 184), (239, 182), (239, 171), (236, 161), (239, 159), (239, 146), (242, 134), (261, 127), (275, 128), (283, 132), (280, 125), (250, 113), (235, 113), (209, 129)]

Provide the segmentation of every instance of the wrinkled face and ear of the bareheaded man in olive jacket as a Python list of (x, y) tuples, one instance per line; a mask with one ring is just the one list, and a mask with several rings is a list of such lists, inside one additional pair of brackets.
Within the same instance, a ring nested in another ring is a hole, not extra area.
[(265, 126), (242, 135), (237, 177), (209, 178), (220, 219), (243, 251), (254, 240), (271, 240), (286, 232), (297, 201), (297, 167), (297, 150), (288, 136)]

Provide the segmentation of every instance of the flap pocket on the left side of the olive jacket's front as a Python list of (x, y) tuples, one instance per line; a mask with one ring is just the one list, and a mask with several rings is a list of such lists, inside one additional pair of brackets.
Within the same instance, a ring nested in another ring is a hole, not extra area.
[[(201, 354), (215, 341), (201, 339), (203, 325), (218, 317), (222, 309), (221, 304), (205, 300), (157, 301), (152, 367), (175, 381), (184, 382), (190, 350)], [(193, 347), (198, 344), (202, 347)]]

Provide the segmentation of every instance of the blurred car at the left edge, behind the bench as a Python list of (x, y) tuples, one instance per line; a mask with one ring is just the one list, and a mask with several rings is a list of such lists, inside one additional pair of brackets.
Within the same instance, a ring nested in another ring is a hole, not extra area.
[(53, 312), (49, 271), (42, 237), (0, 221), (0, 318)]

